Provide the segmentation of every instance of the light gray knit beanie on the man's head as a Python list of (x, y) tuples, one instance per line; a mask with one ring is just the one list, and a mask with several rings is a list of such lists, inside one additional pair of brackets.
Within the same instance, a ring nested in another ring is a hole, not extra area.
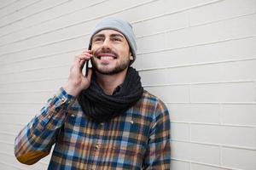
[(90, 43), (89, 43), (89, 49), (91, 49), (91, 41), (92, 37), (99, 31), (102, 30), (114, 30), (114, 31), (119, 31), (122, 33), (127, 42), (129, 43), (130, 49), (131, 49), (131, 54), (133, 56), (133, 60), (131, 60), (130, 65), (134, 62), (136, 59), (136, 52), (137, 52), (137, 44), (135, 41), (135, 35), (134, 32), (132, 31), (132, 26), (129, 22), (126, 22), (125, 20), (120, 20), (117, 18), (109, 17), (101, 20), (94, 30), (92, 31), (90, 35)]

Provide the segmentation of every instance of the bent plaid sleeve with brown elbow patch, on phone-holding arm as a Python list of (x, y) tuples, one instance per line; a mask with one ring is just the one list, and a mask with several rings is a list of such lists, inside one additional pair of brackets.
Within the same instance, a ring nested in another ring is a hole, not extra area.
[(74, 97), (61, 88), (15, 138), (15, 156), (31, 165), (49, 155)]

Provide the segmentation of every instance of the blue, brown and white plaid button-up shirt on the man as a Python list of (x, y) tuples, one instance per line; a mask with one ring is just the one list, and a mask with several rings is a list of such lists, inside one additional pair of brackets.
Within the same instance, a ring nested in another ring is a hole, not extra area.
[(48, 169), (170, 169), (166, 106), (144, 91), (142, 99), (109, 122), (86, 118), (63, 88), (15, 139), (15, 156), (33, 164), (49, 155)]

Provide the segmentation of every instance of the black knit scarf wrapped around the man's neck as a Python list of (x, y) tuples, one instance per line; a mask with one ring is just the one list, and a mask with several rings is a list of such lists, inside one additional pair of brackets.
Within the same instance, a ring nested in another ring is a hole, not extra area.
[(123, 114), (135, 105), (142, 95), (141, 77), (134, 68), (129, 67), (124, 83), (113, 95), (104, 94), (93, 73), (90, 87), (79, 94), (78, 100), (86, 116), (96, 122), (106, 122)]

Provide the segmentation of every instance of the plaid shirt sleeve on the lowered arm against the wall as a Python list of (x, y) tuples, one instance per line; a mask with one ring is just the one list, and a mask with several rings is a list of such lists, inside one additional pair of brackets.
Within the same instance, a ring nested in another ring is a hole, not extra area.
[(143, 169), (171, 169), (171, 122), (164, 103), (157, 104)]

